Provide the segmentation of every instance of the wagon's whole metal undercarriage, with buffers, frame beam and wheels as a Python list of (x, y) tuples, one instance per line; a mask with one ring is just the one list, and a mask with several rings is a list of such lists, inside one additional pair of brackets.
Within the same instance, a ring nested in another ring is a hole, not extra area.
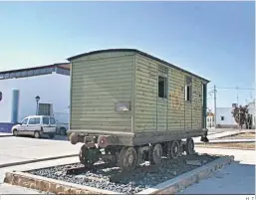
[[(86, 133), (70, 131), (68, 138), (72, 144), (83, 143), (79, 158), (86, 167), (92, 167), (98, 160), (119, 166), (123, 171), (131, 171), (144, 161), (159, 164), (162, 156), (177, 159), (183, 152), (194, 153), (192, 137), (201, 136), (207, 142), (207, 130), (179, 132), (179, 134), (153, 133)], [(186, 139), (183, 141), (182, 139)]]

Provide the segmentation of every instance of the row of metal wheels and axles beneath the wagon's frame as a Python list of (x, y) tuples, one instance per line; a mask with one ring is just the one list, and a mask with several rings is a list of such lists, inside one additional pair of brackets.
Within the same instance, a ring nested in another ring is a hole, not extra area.
[(184, 151), (186, 154), (194, 153), (192, 138), (186, 141), (173, 140), (144, 146), (107, 146), (106, 148), (89, 146), (85, 143), (81, 147), (79, 158), (81, 163), (88, 168), (93, 167), (97, 161), (104, 160), (117, 165), (122, 171), (132, 171), (144, 161), (159, 164), (162, 156), (177, 159)]

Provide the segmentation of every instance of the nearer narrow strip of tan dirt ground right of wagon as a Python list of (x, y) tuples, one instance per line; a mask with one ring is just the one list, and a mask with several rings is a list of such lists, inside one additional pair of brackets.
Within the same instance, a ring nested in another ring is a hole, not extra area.
[(254, 150), (255, 142), (201, 143), (201, 144), (196, 144), (195, 146), (209, 147), (209, 148), (234, 148), (234, 149)]

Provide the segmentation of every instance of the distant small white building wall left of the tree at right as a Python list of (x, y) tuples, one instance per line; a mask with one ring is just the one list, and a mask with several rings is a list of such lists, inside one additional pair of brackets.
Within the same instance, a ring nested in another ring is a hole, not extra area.
[[(231, 111), (232, 107), (216, 107), (216, 125), (237, 125)], [(224, 116), (224, 120), (221, 120), (221, 116)]]

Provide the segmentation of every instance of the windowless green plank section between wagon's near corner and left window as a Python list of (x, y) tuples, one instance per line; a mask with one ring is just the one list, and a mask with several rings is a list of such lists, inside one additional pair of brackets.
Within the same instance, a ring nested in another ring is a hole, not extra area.
[(135, 56), (135, 132), (157, 131), (157, 66), (142, 56)]

